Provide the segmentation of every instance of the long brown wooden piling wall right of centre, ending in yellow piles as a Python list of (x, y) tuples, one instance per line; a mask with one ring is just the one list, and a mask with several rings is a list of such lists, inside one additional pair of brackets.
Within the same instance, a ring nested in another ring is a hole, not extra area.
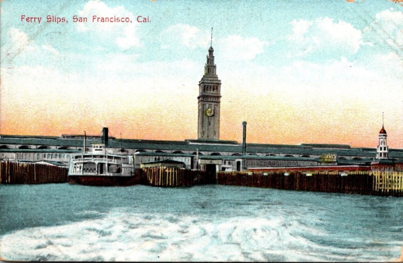
[[(217, 183), (318, 192), (403, 196), (403, 172), (370, 171), (341, 174), (290, 172), (219, 172)], [(399, 187), (400, 186), (400, 187)]]

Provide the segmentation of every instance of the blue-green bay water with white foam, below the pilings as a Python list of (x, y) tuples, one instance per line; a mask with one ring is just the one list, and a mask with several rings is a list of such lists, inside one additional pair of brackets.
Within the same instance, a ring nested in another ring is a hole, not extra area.
[(239, 186), (1, 185), (19, 261), (391, 261), (403, 199)]

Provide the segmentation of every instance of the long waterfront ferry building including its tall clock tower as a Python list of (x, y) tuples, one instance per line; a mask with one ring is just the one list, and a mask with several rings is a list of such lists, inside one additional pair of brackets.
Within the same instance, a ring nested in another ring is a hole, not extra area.
[[(108, 152), (130, 157), (137, 168), (153, 163), (175, 161), (186, 169), (208, 172), (246, 170), (262, 167), (311, 167), (323, 165), (371, 166), (376, 169), (403, 170), (403, 149), (387, 145), (386, 130), (379, 131), (375, 148), (352, 148), (338, 144), (275, 145), (246, 143), (247, 123), (242, 142), (220, 140), (221, 81), (210, 46), (205, 72), (198, 83), (197, 139), (156, 141), (109, 138), (108, 128), (102, 136), (0, 135), (0, 160), (39, 162), (67, 166), (70, 156), (89, 150), (92, 144), (104, 143)], [(241, 125), (242, 124), (242, 125)], [(84, 143), (85, 142), (85, 143)], [(84, 147), (85, 144), (85, 147)]]

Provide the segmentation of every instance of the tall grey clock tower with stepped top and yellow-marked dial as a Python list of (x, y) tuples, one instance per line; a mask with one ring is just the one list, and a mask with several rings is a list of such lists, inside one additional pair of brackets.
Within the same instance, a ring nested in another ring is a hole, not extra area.
[(221, 81), (217, 76), (213, 52), (210, 46), (205, 74), (198, 83), (197, 140), (220, 139)]

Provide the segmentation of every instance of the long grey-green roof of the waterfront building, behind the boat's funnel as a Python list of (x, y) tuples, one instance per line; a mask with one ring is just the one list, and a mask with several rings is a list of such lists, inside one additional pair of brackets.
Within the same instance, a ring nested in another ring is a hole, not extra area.
[[(92, 143), (100, 143), (100, 140), (87, 140), (87, 147)], [(14, 136), (0, 135), (1, 145), (36, 145), (53, 147), (82, 147), (81, 139), (65, 139), (54, 136)], [(242, 145), (235, 141), (157, 141), (138, 139), (109, 139), (109, 148), (153, 150), (153, 151), (193, 151), (196, 152), (229, 152), (241, 153)], [(0, 151), (4, 151), (1, 149)], [(15, 150), (15, 149), (13, 149)], [(340, 144), (301, 144), (301, 145), (277, 145), (247, 143), (248, 154), (297, 154), (297, 155), (321, 155), (333, 153), (339, 156), (361, 156), (373, 158), (376, 156), (376, 148), (352, 148), (349, 145)], [(403, 159), (403, 149), (389, 149), (390, 158)]]

